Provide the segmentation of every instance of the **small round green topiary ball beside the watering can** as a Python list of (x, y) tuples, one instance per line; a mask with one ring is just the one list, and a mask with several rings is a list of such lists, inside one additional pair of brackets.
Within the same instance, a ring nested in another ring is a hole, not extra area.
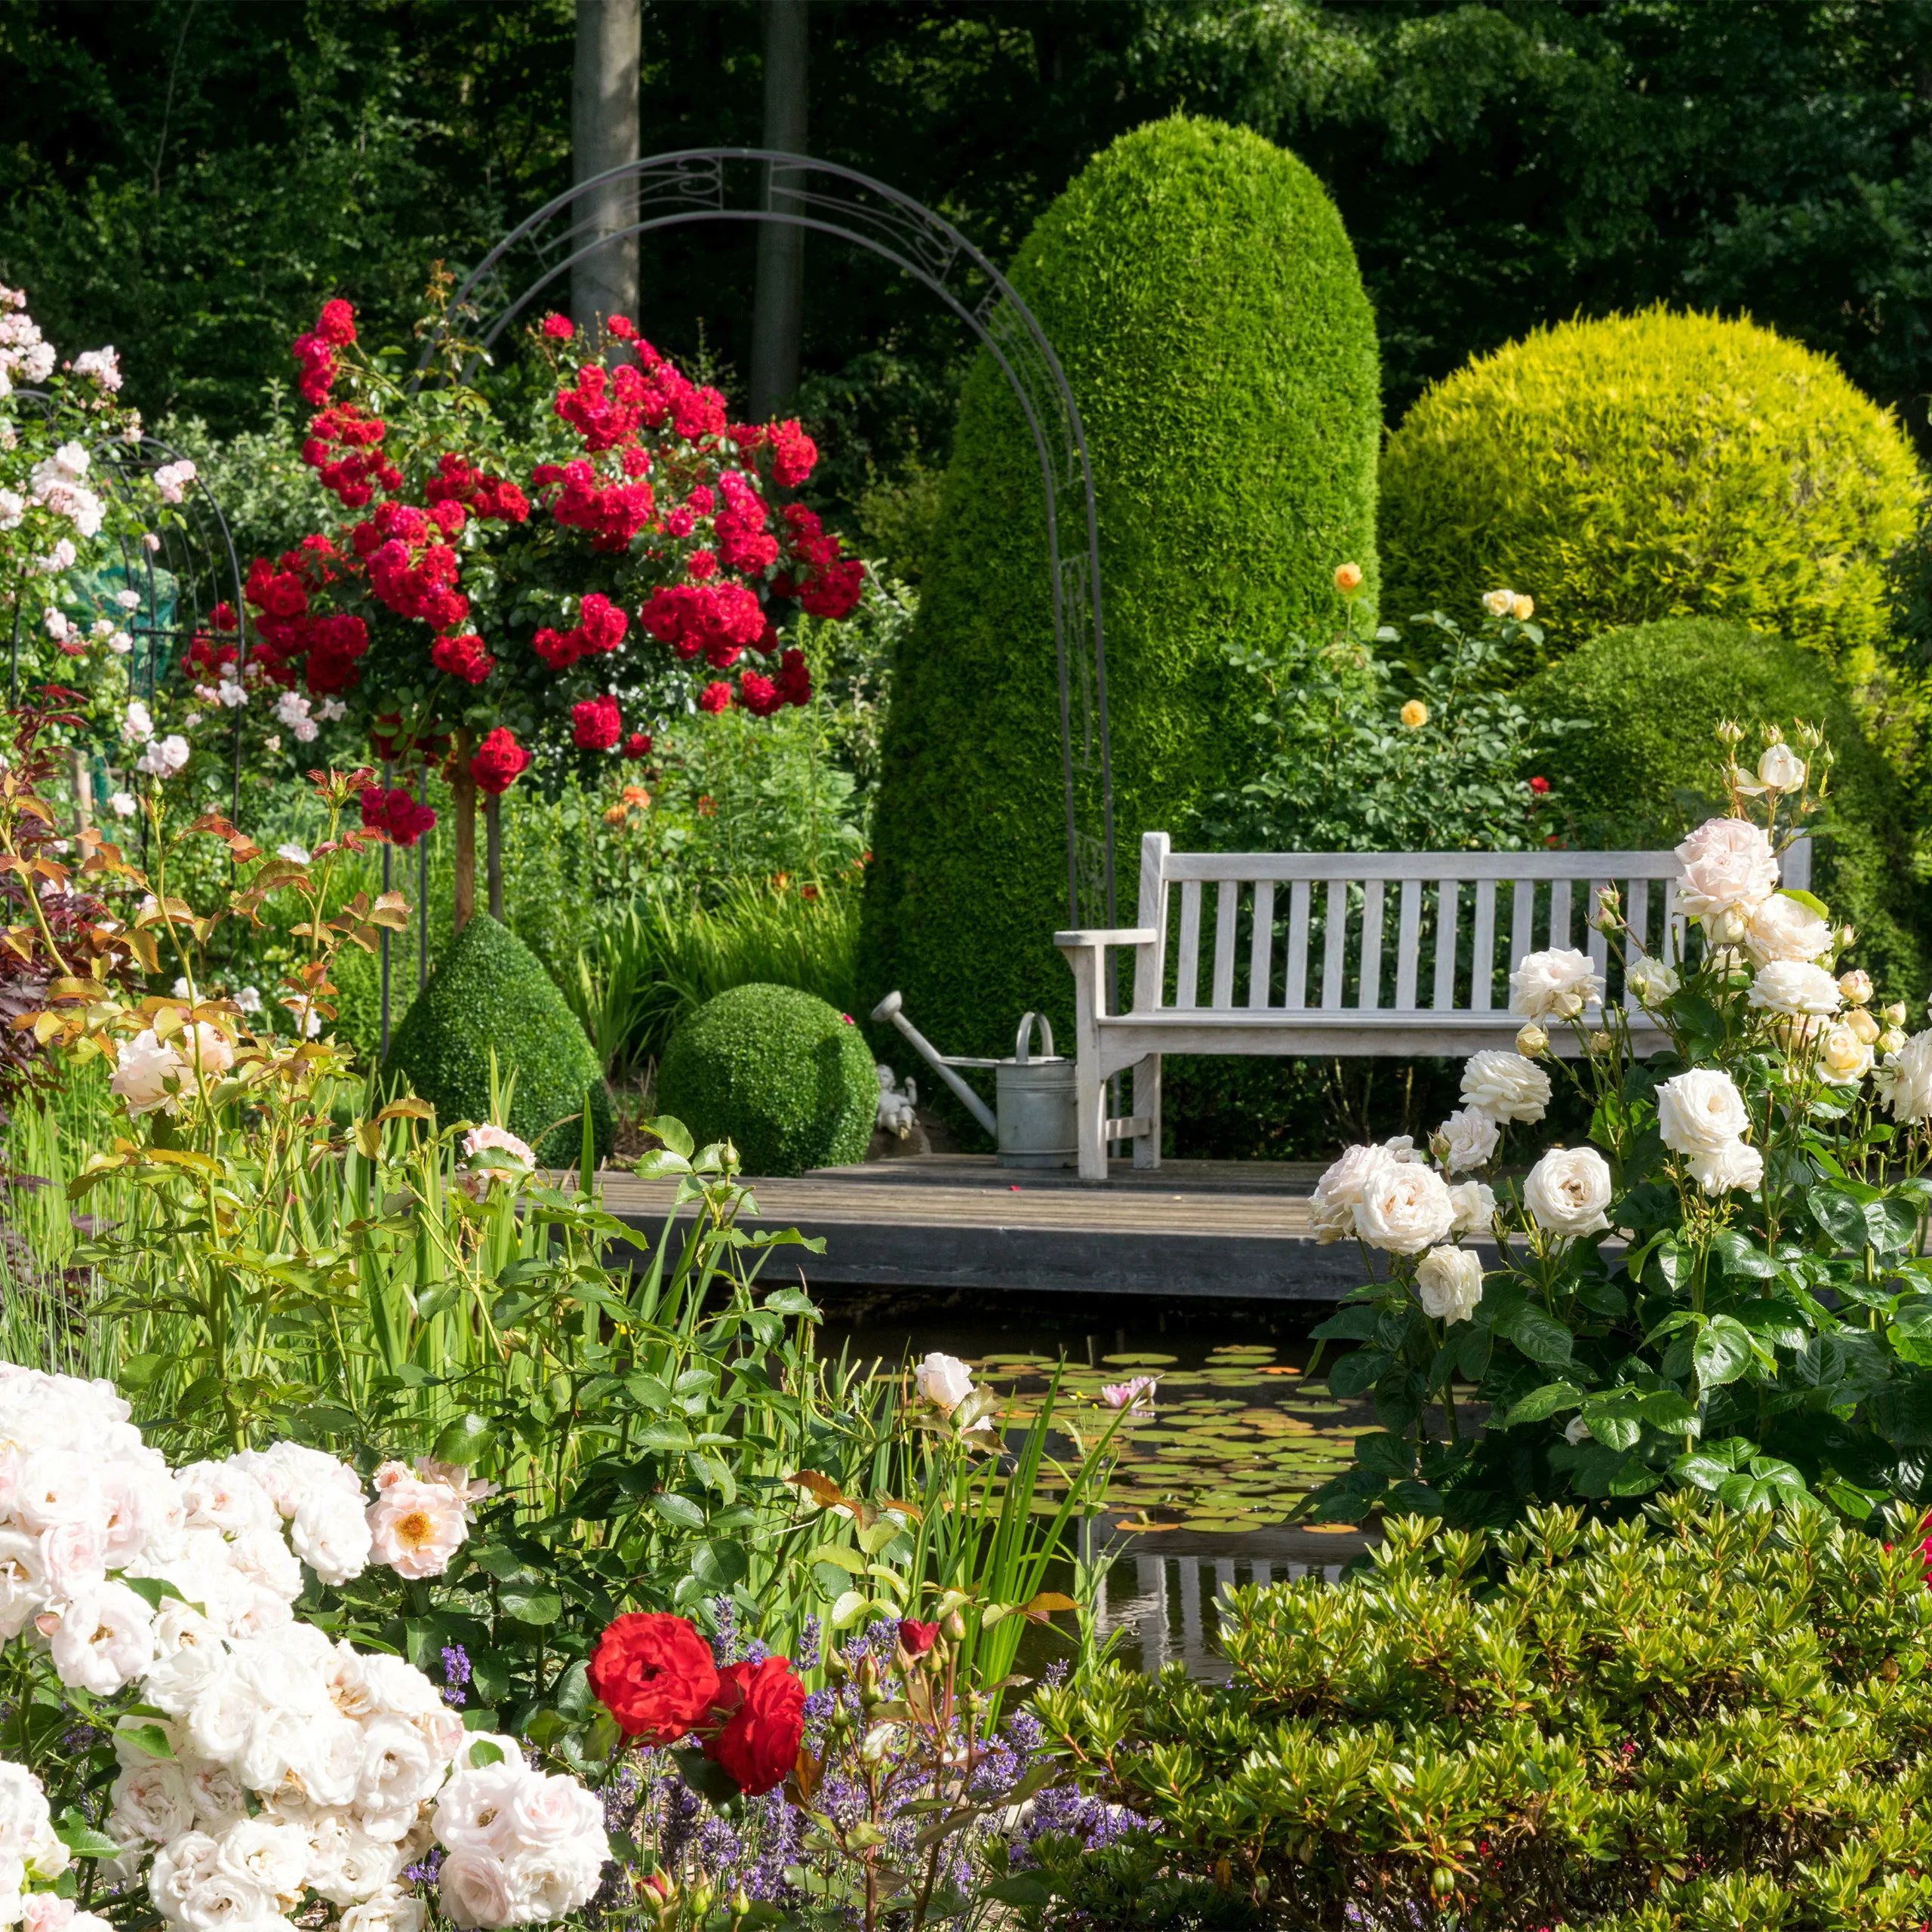
[(866, 1157), (879, 1076), (837, 1007), (790, 985), (734, 985), (670, 1036), (657, 1111), (701, 1148), (730, 1140), (748, 1175), (802, 1175)]

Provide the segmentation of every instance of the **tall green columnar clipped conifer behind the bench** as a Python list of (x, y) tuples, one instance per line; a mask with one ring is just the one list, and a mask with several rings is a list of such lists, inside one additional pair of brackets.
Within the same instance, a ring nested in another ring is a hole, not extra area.
[[(1248, 703), (1223, 641), (1331, 622), (1339, 562), (1374, 585), (1374, 315), (1321, 184), (1206, 120), (1115, 141), (1039, 218), (1012, 280), (1094, 460), (1132, 918), (1140, 833), (1182, 831), (1244, 769)], [(1063, 556), (1078, 553), (1076, 497), (1061, 518)], [(1078, 736), (1078, 670), (1072, 703)], [(1028, 1007), (1066, 1022), (1051, 945), (1068, 910), (1063, 786), (1039, 458), (981, 352), (887, 721), (864, 1003), (900, 987), (951, 1053), (1010, 1051)]]

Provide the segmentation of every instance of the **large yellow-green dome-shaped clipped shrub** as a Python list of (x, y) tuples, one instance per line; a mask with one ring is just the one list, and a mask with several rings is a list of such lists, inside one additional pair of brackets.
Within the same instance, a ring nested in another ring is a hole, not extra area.
[(1383, 611), (1507, 585), (1546, 661), (1615, 624), (1725, 616), (1866, 682), (1924, 495), (1889, 410), (1750, 321), (1561, 323), (1437, 383), (1381, 458)]

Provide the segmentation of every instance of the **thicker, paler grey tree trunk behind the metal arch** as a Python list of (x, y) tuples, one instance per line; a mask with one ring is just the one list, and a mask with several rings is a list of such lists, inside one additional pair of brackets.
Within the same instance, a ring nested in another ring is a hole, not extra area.
[[(570, 97), (572, 180), (587, 182), (638, 158), (641, 0), (578, 0), (578, 60)], [(638, 220), (636, 180), (578, 197), (578, 245), (618, 236)], [(638, 313), (638, 238), (607, 242), (570, 270), (570, 315), (595, 328)]]

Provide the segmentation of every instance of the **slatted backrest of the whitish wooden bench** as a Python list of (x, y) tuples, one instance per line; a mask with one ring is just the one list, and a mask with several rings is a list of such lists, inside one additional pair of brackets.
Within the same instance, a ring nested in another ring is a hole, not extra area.
[[(1677, 904), (1679, 869), (1673, 852), (1175, 852), (1165, 833), (1150, 833), (1140, 854), (1140, 923), (1157, 937), (1138, 958), (1134, 1007), (1202, 1009), (1209, 883), (1215, 893), (1208, 1010), (1260, 1016), (1306, 1012), (1314, 1005), (1327, 1014), (1499, 1014), (1509, 1003), (1509, 972), (1542, 947), (1580, 943), (1596, 970), (1615, 978), (1604, 933), (1588, 923), (1575, 931), (1592, 918), (1605, 887), (1621, 895), (1629, 951), (1654, 951), (1681, 964), (1689, 922)], [(1391, 881), (1401, 889), (1393, 908)], [(1507, 904), (1499, 891), (1505, 883)], [(1785, 852), (1783, 883), (1797, 889), (1810, 883), (1808, 840)], [(1507, 951), (1497, 958), (1505, 923)], [(1312, 962), (1318, 929), (1321, 956)], [(1321, 976), (1320, 993), (1310, 985), (1312, 966)], [(1428, 1005), (1418, 1003), (1424, 976)], [(1609, 997), (1636, 1010), (1621, 983), (1611, 985)]]

